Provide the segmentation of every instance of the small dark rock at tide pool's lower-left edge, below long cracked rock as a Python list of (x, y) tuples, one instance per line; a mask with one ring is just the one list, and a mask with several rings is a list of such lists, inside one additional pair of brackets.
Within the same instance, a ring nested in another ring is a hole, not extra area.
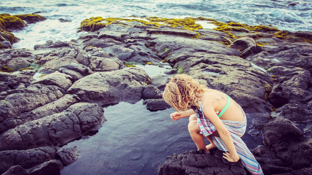
[(70, 165), (73, 163), (79, 156), (78, 148), (75, 146), (74, 148), (66, 148), (58, 151), (56, 156), (61, 159), (61, 162), (64, 166)]

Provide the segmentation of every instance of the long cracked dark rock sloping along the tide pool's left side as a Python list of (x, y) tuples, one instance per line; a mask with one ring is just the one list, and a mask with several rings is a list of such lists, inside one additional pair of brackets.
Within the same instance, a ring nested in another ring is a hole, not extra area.
[(98, 130), (106, 120), (103, 111), (97, 104), (73, 104), (65, 111), (3, 132), (0, 134), (0, 150), (65, 144), (90, 130)]

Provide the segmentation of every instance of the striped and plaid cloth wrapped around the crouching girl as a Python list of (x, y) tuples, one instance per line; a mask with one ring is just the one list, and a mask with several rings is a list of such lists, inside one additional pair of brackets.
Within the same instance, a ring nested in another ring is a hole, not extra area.
[[(201, 130), (200, 133), (204, 136), (211, 135), (217, 129), (204, 116), (202, 102), (199, 101), (198, 103), (199, 103), (200, 108), (198, 109), (197, 107), (192, 106), (192, 109), (196, 113), (197, 125), (200, 127), (200, 130)], [(243, 136), (246, 131), (246, 123), (247, 123), (246, 115), (242, 108), (241, 108), (241, 111), (244, 114), (243, 121), (227, 121), (227, 120), (221, 120), (221, 121), (225, 125), (227, 130), (229, 131), (230, 135), (232, 136), (237, 154), (240, 157), (244, 166), (247, 168), (247, 170), (253, 175), (263, 175), (263, 172), (259, 163), (256, 161), (255, 157), (251, 154), (250, 150), (247, 148), (244, 141), (241, 140), (241, 136)], [(228, 152), (227, 147), (225, 146), (224, 142), (221, 140), (220, 137), (212, 136), (212, 140), (218, 149)]]

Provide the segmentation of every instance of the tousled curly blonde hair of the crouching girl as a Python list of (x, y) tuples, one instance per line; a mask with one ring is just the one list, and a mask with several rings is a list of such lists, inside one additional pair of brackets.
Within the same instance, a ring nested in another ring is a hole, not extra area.
[(187, 111), (191, 106), (198, 106), (198, 93), (208, 89), (207, 86), (193, 80), (187, 74), (179, 74), (169, 79), (163, 91), (163, 98), (176, 111)]

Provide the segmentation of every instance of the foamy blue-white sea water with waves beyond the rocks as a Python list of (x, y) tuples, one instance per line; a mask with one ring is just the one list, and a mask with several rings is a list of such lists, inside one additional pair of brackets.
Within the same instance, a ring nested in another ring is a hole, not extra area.
[[(280, 30), (312, 31), (312, 0), (1, 0), (0, 14), (38, 12), (45, 21), (13, 34), (21, 40), (13, 48), (33, 49), (47, 40), (70, 41), (80, 34), (80, 22), (90, 17), (206, 17), (247, 25), (273, 25)], [(66, 19), (71, 22), (60, 22)]]

